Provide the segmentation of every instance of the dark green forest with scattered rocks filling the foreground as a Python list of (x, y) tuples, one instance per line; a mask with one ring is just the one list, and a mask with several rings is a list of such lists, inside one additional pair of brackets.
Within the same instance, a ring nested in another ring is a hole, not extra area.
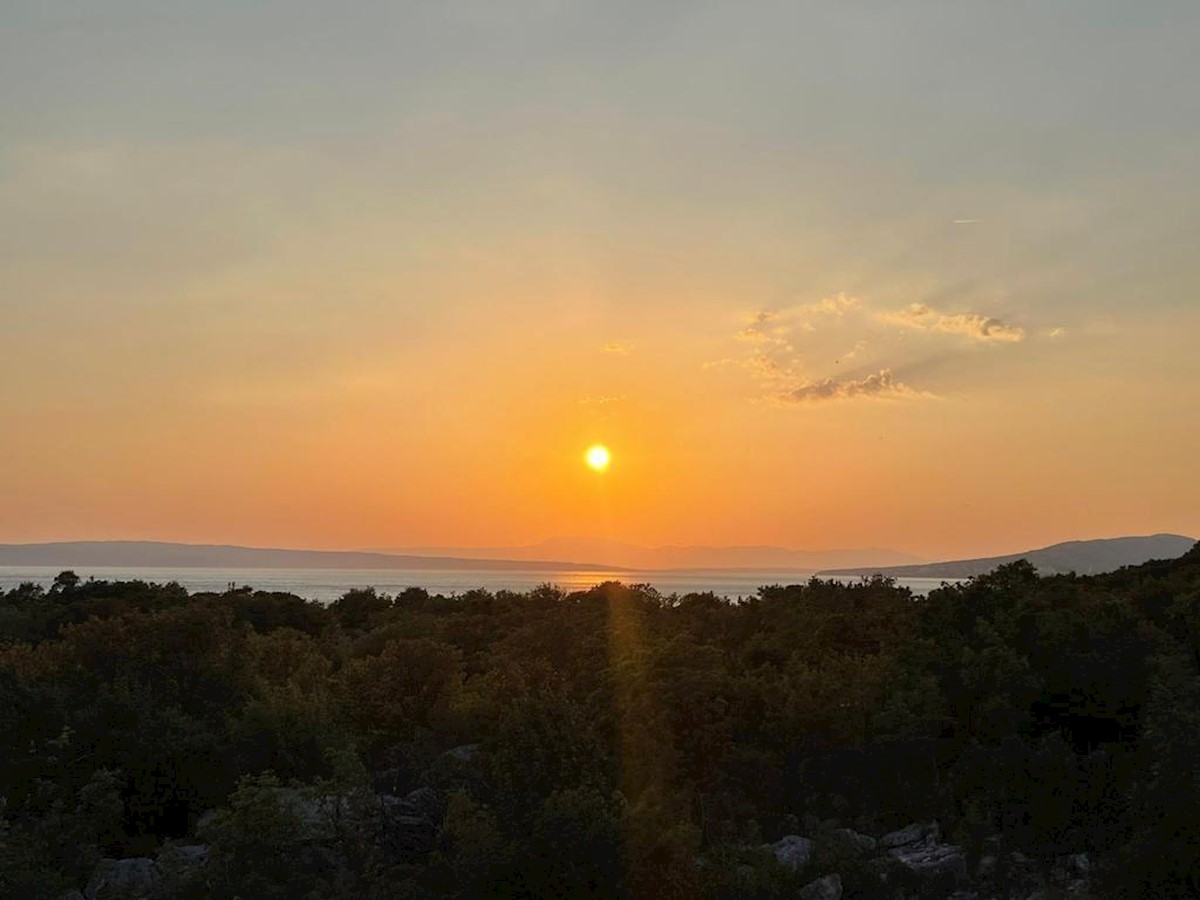
[(0, 594), (2, 898), (1200, 895), (1200, 545), (925, 598)]

